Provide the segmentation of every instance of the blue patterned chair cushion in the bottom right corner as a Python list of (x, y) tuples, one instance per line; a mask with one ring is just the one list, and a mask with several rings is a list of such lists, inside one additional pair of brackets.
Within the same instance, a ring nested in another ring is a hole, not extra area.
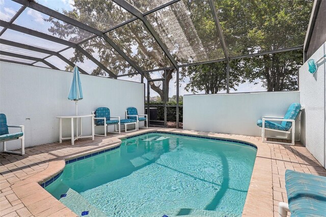
[(326, 177), (286, 170), (285, 188), (293, 216), (325, 216)]

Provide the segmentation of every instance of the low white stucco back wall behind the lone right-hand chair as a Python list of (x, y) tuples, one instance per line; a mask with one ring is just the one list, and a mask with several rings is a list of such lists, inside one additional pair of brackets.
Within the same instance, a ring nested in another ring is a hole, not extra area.
[[(260, 136), (261, 130), (256, 125), (257, 120), (264, 115), (283, 117), (292, 102), (300, 102), (298, 91), (185, 95), (183, 128)], [(295, 123), (297, 140), (300, 138), (297, 124), (299, 121)]]

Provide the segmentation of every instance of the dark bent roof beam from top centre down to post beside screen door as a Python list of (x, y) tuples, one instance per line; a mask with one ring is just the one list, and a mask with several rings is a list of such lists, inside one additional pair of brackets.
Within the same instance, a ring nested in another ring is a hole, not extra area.
[(148, 29), (148, 31), (151, 33), (151, 35), (154, 37), (155, 41), (158, 43), (158, 45), (163, 50), (163, 52), (167, 55), (167, 57), (169, 58), (169, 60), (172, 63), (172, 65), (176, 69), (178, 69), (179, 66), (178, 66), (177, 61), (172, 57), (170, 51), (168, 50), (168, 47), (159, 38), (159, 36), (156, 33), (156, 31), (154, 30), (153, 26), (149, 23), (149, 21), (144, 16), (144, 14), (142, 12), (140, 12), (139, 10), (137, 10), (136, 8), (134, 8), (129, 3), (127, 3), (125, 0), (112, 0), (112, 1), (115, 2), (117, 5), (119, 5), (120, 7), (122, 7), (123, 9), (125, 9), (126, 11), (128, 11), (129, 13), (131, 13), (132, 15), (134, 15), (135, 17), (137, 17), (137, 18), (139, 18), (140, 20), (143, 21), (144, 25), (146, 26), (146, 28)]

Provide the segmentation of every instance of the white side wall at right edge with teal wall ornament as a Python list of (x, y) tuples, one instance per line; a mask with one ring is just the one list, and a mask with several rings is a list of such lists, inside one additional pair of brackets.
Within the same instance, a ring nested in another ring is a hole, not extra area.
[[(310, 59), (318, 61), (326, 53), (326, 42), (312, 55)], [(308, 71), (308, 62), (299, 70), (300, 101), (305, 106), (302, 116), (301, 142), (326, 168), (325, 156), (325, 96), (326, 96), (326, 66), (325, 59), (318, 64), (314, 74)]]

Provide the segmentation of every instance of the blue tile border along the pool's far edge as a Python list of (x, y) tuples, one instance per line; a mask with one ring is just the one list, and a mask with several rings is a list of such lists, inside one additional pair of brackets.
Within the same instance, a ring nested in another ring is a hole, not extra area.
[(208, 139), (208, 140), (215, 140), (215, 141), (221, 141), (221, 142), (237, 143), (237, 144), (247, 145), (247, 146), (250, 146), (250, 147), (253, 147), (253, 148), (257, 149), (257, 146), (255, 146), (254, 144), (239, 141), (239, 140), (222, 139), (222, 138), (216, 138), (216, 137), (207, 137), (205, 135), (192, 135), (192, 134), (179, 133), (179, 132), (150, 131), (150, 132), (145, 132), (145, 133), (141, 133), (141, 134), (137, 134), (137, 135), (131, 135), (130, 137), (126, 137), (124, 139), (131, 139), (131, 138), (134, 138), (134, 137), (139, 137), (140, 135), (146, 135), (146, 134), (151, 134), (151, 133), (182, 135), (184, 137), (192, 137), (192, 138), (198, 138), (198, 139)]

